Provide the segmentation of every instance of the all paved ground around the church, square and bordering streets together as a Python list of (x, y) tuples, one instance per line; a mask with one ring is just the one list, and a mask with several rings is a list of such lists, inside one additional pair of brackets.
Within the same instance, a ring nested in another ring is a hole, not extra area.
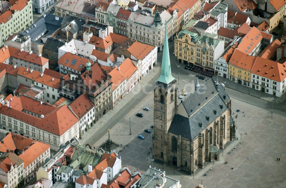
[[(170, 45), (170, 54), (172, 54)], [(153, 129), (153, 89), (160, 73), (162, 53), (158, 53), (157, 65), (133, 88), (126, 97), (116, 104), (112, 111), (102, 117), (95, 126), (87, 131), (80, 142), (90, 143), (99, 147), (110, 138), (118, 143), (122, 165), (128, 165), (132, 170), (139, 169), (143, 173), (152, 166), (152, 134)], [(174, 56), (170, 55), (172, 75), (177, 79), (178, 88), (194, 85), (196, 73), (179, 70)], [(173, 62), (174, 61), (174, 62)], [(178, 79), (180, 72), (180, 79)], [(199, 80), (202, 85), (205, 81)], [(188, 89), (188, 88), (187, 88)], [(190, 89), (190, 88), (189, 88)], [(154, 163), (154, 167), (166, 171), (166, 174), (181, 181), (182, 187), (195, 187), (201, 182), (207, 187), (279, 187), (284, 185), (286, 152), (284, 141), (285, 130), (285, 101), (273, 104), (273, 118), (271, 118), (272, 103), (253, 97), (245, 93), (225, 87), (232, 100), (232, 110), (240, 109), (237, 121), (236, 136), (239, 140), (231, 141), (224, 151), (221, 151), (220, 161), (215, 164), (205, 163), (204, 169), (198, 169), (195, 176), (185, 175), (176, 171), (174, 166), (163, 166)], [(136, 91), (136, 92), (135, 92)], [(187, 91), (188, 97), (194, 91)], [(144, 111), (149, 107), (150, 111)], [(136, 117), (136, 113), (143, 113), (144, 117)], [(244, 113), (242, 113), (244, 112)], [(236, 115), (235, 114), (235, 115)], [(245, 117), (243, 117), (245, 115)], [(132, 135), (129, 133), (129, 116)], [(144, 132), (150, 129), (152, 133)], [(247, 135), (245, 134), (247, 132)], [(144, 140), (137, 136), (141, 134)], [(240, 140), (241, 139), (241, 140)], [(242, 141), (242, 143), (239, 143)], [(235, 148), (235, 149), (234, 149)], [(227, 154), (230, 152), (229, 154)], [(281, 158), (281, 161), (277, 161)], [(225, 165), (228, 161), (228, 165)], [(231, 169), (233, 167), (233, 169)], [(212, 168), (212, 170), (210, 170)], [(207, 173), (207, 176), (202, 176)]]

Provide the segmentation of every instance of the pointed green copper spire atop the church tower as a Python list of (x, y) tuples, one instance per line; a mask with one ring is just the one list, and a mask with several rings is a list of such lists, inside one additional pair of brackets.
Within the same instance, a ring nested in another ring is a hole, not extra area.
[(166, 23), (161, 74), (160, 74), (160, 77), (158, 78), (158, 81), (168, 84), (171, 81), (173, 81), (174, 79), (175, 78), (172, 77), (172, 73), (171, 73), (171, 64), (170, 64), (170, 55), (169, 55), (169, 46), (168, 46), (168, 35), (167, 35), (167, 23)]

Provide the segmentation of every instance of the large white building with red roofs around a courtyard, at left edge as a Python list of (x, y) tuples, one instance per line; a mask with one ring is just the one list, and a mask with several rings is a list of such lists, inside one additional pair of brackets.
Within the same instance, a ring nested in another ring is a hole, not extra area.
[(5, 101), (0, 113), (2, 129), (50, 144), (52, 149), (79, 137), (78, 118), (67, 105), (55, 107), (21, 95)]

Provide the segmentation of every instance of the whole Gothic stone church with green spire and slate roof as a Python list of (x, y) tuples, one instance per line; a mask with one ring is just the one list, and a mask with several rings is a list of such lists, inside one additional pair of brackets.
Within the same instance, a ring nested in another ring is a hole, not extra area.
[[(165, 33), (166, 35), (166, 33)], [(165, 42), (168, 44), (167, 37)], [(205, 161), (219, 160), (219, 150), (235, 137), (231, 100), (212, 79), (177, 101), (177, 81), (171, 75), (168, 45), (154, 89), (153, 159), (193, 174)], [(218, 82), (217, 82), (218, 83)]]

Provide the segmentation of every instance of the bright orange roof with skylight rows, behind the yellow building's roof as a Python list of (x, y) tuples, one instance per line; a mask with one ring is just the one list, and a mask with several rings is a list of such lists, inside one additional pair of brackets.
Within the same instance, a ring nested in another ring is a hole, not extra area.
[(256, 27), (252, 27), (251, 30), (243, 37), (237, 48), (245, 54), (250, 54), (261, 40), (262, 35), (260, 31)]

